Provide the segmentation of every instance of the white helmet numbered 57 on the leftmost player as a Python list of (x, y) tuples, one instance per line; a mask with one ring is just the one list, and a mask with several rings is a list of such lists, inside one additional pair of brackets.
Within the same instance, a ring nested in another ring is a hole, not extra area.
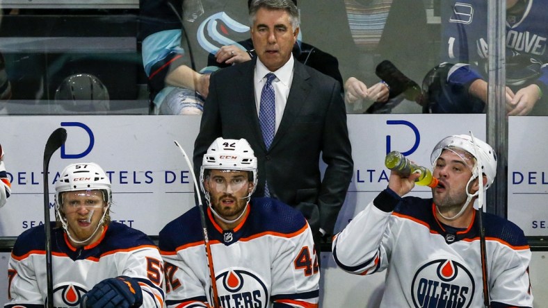
[(95, 190), (104, 191), (104, 200), (111, 204), (111, 180), (95, 162), (79, 162), (63, 169), (55, 184), (56, 208), (61, 207), (60, 194), (65, 191)]

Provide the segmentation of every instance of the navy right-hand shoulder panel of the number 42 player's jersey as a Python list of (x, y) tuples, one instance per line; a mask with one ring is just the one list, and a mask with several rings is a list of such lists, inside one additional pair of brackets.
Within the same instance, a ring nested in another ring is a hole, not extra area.
[(307, 225), (305, 216), (293, 207), (274, 198), (252, 198), (248, 222), (262, 232), (289, 234)]

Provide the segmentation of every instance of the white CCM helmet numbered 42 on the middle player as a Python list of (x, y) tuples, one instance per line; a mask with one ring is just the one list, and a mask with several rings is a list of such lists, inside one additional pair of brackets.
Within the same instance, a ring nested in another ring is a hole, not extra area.
[[(245, 139), (223, 139), (218, 137), (207, 149), (200, 168), (200, 185), (204, 194), (204, 171), (206, 169), (249, 171), (252, 173), (253, 191), (257, 187), (257, 157)], [(250, 192), (250, 195), (253, 193)]]

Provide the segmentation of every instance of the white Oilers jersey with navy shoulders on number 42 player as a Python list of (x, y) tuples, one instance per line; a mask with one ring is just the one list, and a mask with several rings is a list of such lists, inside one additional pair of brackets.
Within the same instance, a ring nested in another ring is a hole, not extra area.
[[(319, 266), (312, 232), (296, 209), (251, 200), (234, 230), (221, 230), (207, 208), (207, 230), (221, 307), (318, 307)], [(193, 207), (160, 232), (168, 307), (207, 307), (213, 298), (200, 212)]]

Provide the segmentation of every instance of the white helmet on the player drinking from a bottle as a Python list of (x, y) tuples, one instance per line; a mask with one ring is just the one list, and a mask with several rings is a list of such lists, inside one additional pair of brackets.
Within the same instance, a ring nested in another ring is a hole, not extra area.
[[(497, 154), (494, 153), (493, 148), (476, 137), (472, 140), (472, 137), (469, 135), (452, 135), (445, 137), (434, 147), (430, 155), (432, 165), (435, 165), (437, 158), (442, 155), (444, 149), (451, 148), (460, 148), (463, 151), (467, 151), (467, 153), (476, 159), (475, 163), (479, 164), (483, 174), (487, 177), (487, 183), (485, 184), (485, 190), (487, 190), (493, 183), (494, 177), (497, 176)], [(472, 166), (471, 180), (478, 177), (477, 170), (476, 166)]]

